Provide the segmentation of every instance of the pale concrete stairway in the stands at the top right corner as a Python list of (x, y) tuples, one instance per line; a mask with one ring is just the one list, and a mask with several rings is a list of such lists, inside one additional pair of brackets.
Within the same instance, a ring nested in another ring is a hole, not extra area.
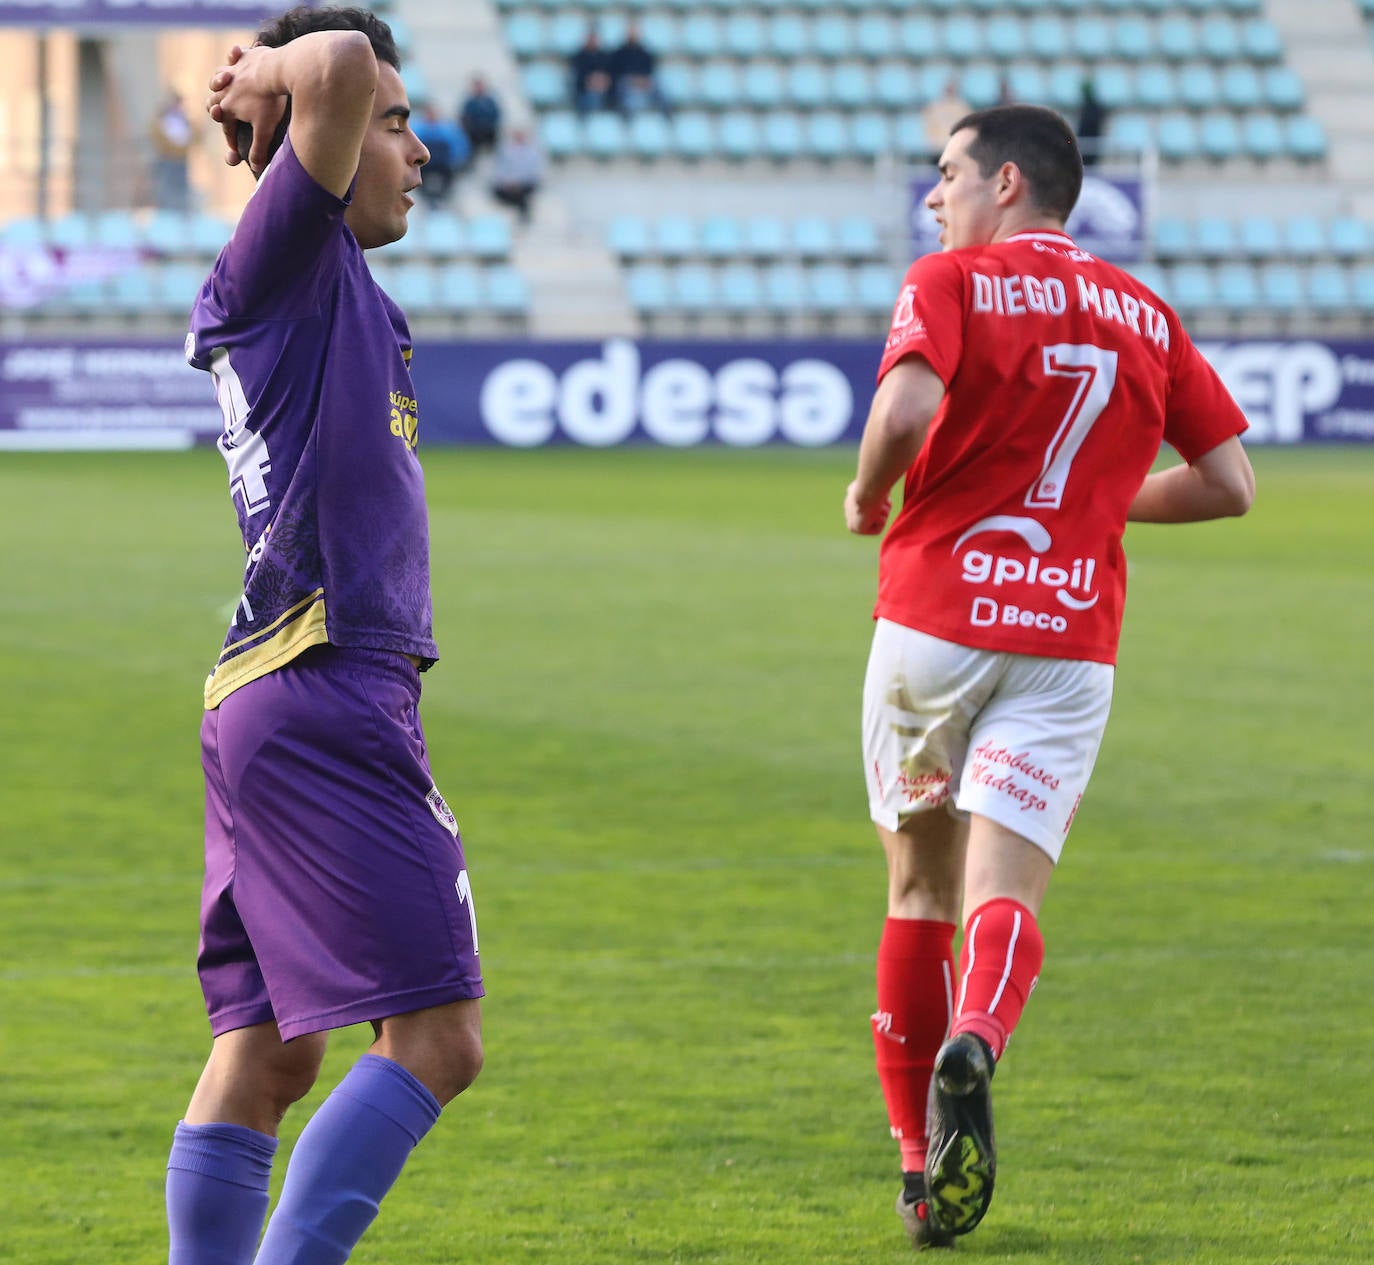
[(1327, 136), (1327, 172), (1351, 207), (1374, 218), (1374, 44), (1353, 0), (1264, 0), (1287, 65), (1303, 80), (1307, 111)]

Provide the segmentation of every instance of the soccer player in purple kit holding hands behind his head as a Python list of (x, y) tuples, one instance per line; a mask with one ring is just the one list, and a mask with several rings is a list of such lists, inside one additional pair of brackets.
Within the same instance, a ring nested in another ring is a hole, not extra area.
[[(247, 563), (205, 691), (214, 1040), (168, 1162), (170, 1265), (348, 1260), (482, 1062), (473, 891), (419, 721), (437, 648), (411, 339), (363, 258), (404, 235), (429, 158), (398, 66), (370, 12), (297, 8), (210, 80), (257, 187), (187, 358), (224, 411)], [(262, 1233), (278, 1125), (328, 1030), (361, 1022), (375, 1041)]]

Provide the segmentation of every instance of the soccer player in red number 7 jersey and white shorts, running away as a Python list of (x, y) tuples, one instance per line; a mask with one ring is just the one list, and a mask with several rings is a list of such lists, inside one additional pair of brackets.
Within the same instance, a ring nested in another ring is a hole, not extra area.
[[(1081, 184), (1051, 110), (955, 125), (926, 198), (944, 251), (905, 276), (845, 496), (849, 530), (877, 536), (905, 479), (863, 754), (888, 856), (874, 1048), (918, 1249), (992, 1199), (989, 1082), (1106, 727), (1125, 525), (1239, 515), (1254, 494), (1245, 418), (1178, 316), (1065, 232)], [(1151, 474), (1161, 442), (1183, 463)]]

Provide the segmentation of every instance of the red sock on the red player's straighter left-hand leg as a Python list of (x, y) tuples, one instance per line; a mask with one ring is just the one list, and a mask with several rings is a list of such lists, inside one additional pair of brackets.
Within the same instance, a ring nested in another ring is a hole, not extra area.
[(954, 923), (889, 918), (878, 944), (872, 1045), (901, 1170), (926, 1169), (926, 1093), (954, 1010)]

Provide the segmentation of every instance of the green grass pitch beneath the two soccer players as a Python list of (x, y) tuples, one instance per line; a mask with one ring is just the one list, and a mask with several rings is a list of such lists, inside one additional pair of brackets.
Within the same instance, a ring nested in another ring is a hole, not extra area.
[[(907, 1260), (868, 1033), (853, 455), (423, 460), (425, 717), (488, 1062), (353, 1260)], [(1256, 466), (1248, 519), (1128, 536), (1114, 716), (959, 1260), (1374, 1260), (1374, 451)], [(207, 1049), (223, 464), (4, 455), (0, 532), (0, 1260), (157, 1265)], [(365, 1044), (335, 1034), (322, 1085)]]

